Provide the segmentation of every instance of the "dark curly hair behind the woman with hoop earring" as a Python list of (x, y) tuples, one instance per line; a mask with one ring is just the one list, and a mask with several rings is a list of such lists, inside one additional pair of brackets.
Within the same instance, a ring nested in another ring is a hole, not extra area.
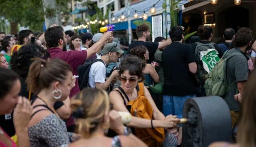
[(38, 45), (22, 46), (20, 50), (15, 52), (11, 57), (10, 65), (12, 70), (21, 78), (26, 78), (28, 76), (29, 67), (33, 62), (31, 59), (35, 57), (48, 59), (50, 58), (50, 54)]

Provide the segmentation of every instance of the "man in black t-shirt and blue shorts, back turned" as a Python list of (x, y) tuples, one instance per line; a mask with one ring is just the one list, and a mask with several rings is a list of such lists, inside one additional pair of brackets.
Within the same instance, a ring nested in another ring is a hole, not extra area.
[(182, 118), (184, 103), (195, 95), (196, 57), (190, 45), (182, 43), (184, 39), (182, 27), (172, 27), (169, 35), (172, 44), (162, 52), (163, 114), (165, 116), (172, 114)]

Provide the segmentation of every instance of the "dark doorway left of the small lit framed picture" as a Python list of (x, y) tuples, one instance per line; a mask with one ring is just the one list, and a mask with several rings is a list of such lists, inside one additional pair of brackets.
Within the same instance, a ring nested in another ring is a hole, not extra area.
[(198, 13), (184, 13), (182, 16), (182, 26), (186, 33), (197, 31), (198, 25), (202, 24), (202, 16)]

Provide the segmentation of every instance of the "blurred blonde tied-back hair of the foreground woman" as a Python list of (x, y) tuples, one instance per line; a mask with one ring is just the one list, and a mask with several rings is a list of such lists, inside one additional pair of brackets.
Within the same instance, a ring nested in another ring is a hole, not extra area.
[(110, 110), (108, 93), (105, 90), (85, 88), (71, 100), (71, 109), (76, 115), (76, 133), (90, 137), (98, 125), (104, 122), (105, 112)]

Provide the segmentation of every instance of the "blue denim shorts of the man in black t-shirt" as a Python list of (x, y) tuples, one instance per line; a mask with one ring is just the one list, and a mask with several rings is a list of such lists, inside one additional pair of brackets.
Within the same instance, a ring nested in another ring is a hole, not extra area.
[(183, 106), (187, 99), (194, 98), (192, 96), (163, 96), (163, 114), (168, 116), (170, 114), (176, 115), (178, 118), (182, 118)]

